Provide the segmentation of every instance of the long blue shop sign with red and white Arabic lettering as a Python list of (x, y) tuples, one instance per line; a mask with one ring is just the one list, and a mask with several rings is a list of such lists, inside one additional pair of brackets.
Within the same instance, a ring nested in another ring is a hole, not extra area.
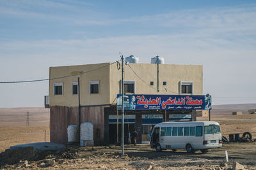
[[(118, 109), (122, 108), (122, 95), (117, 95)], [(143, 95), (124, 96), (125, 110), (209, 110), (211, 96), (199, 95)]]

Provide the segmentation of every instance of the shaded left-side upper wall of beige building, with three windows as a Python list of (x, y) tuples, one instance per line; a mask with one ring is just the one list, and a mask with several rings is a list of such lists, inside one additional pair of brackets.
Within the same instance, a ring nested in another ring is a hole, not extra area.
[[(81, 66), (50, 67), (50, 78), (67, 76), (89, 71), (109, 63), (89, 64)], [(115, 65), (116, 66), (116, 65)], [(50, 106), (78, 106), (78, 95), (72, 94), (72, 81), (80, 77), (81, 105), (109, 104), (109, 66), (79, 76), (70, 76), (49, 81)], [(99, 94), (90, 94), (90, 81), (100, 81)], [(54, 95), (54, 82), (63, 82), (63, 95)]]

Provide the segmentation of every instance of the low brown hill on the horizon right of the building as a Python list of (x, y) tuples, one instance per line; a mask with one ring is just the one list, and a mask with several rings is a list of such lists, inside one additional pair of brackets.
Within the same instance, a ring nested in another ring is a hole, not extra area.
[(232, 115), (233, 111), (242, 111), (243, 114), (248, 114), (250, 109), (256, 109), (256, 103), (212, 105), (211, 115)]

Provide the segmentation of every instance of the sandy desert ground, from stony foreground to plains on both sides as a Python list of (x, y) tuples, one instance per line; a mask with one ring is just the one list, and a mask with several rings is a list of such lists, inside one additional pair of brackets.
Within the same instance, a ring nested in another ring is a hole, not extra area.
[[(256, 138), (256, 114), (246, 110), (256, 104), (213, 106), (211, 120), (219, 122), (223, 136), (251, 132)], [(243, 115), (232, 115), (243, 111)], [(29, 126), (27, 126), (29, 112)], [(209, 118), (198, 117), (198, 121)], [(49, 110), (45, 108), (0, 108), (0, 167), (1, 169), (256, 169), (256, 143), (224, 143), (222, 148), (208, 153), (186, 153), (185, 150), (156, 152), (148, 144), (120, 146), (68, 146), (58, 152), (42, 152), (33, 148), (6, 149), (13, 145), (49, 141)], [(6, 151), (5, 151), (6, 150)], [(225, 151), (228, 152), (228, 162)], [(241, 164), (241, 165), (240, 165)]]

